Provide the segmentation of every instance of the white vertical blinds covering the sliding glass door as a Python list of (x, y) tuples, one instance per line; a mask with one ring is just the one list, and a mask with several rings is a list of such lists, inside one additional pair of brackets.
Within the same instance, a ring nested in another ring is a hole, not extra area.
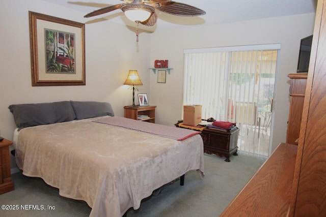
[(203, 119), (236, 122), (239, 149), (268, 156), (279, 49), (273, 44), (185, 50), (183, 104), (202, 105)]

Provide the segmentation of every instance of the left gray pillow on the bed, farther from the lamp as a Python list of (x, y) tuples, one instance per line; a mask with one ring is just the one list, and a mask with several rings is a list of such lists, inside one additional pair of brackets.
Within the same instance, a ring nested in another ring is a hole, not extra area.
[(18, 128), (71, 121), (75, 113), (69, 101), (10, 105)]

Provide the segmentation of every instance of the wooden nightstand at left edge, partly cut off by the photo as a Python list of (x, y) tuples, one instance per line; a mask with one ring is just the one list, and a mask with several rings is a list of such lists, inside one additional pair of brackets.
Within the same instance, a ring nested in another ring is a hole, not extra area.
[(15, 190), (14, 182), (11, 179), (9, 146), (12, 141), (4, 139), (0, 142), (0, 194)]

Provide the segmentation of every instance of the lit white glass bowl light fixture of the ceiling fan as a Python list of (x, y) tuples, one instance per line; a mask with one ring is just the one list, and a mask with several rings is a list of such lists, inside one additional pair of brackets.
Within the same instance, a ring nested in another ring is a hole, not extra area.
[(122, 5), (120, 9), (129, 20), (134, 22), (143, 22), (147, 20), (155, 10), (153, 7), (144, 4), (126, 4)]

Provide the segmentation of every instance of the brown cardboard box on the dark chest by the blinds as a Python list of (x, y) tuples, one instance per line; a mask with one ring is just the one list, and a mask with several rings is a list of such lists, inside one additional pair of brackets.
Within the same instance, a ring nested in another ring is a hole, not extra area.
[(183, 106), (183, 124), (198, 125), (202, 122), (202, 106), (201, 105), (185, 105)]

